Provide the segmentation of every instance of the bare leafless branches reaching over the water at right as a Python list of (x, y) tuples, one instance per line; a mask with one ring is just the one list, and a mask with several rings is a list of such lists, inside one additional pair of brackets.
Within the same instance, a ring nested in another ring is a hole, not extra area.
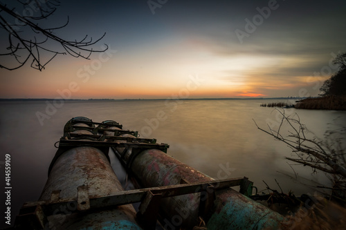
[[(255, 122), (260, 131), (271, 135), (276, 140), (284, 142), (292, 149), (293, 157), (286, 157), (291, 162), (296, 162), (303, 166), (310, 166), (313, 172), (322, 171), (333, 182), (335, 191), (346, 192), (346, 153), (344, 137), (346, 128), (339, 128), (334, 131), (325, 132), (325, 140), (318, 140), (317, 137), (309, 138), (308, 129), (300, 122), (298, 115), (286, 116), (284, 111), (276, 109), (282, 120), (277, 129), (268, 126), (268, 130), (261, 128)], [(288, 135), (284, 135), (282, 128), (288, 128)], [(291, 164), (289, 164), (291, 166)], [(291, 167), (292, 168), (292, 167)], [(292, 168), (293, 169), (293, 168)], [(294, 171), (294, 170), (293, 170)], [(295, 171), (294, 171), (295, 173)], [(295, 173), (296, 176), (296, 173)], [(338, 193), (343, 196), (341, 193)], [(335, 194), (334, 194), (335, 195)], [(340, 197), (338, 197), (340, 198)], [(345, 197), (342, 198), (346, 202)]]

